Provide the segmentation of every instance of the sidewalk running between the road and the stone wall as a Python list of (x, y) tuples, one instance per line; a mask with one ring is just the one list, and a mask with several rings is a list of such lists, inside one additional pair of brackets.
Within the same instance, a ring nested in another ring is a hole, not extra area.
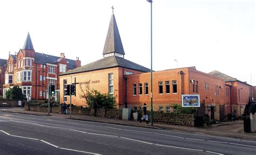
[[(15, 112), (19, 114), (30, 114), (38, 116), (48, 116), (47, 112), (36, 112), (36, 111), (25, 111), (24, 108), (0, 108), (0, 111), (5, 112)], [(222, 122), (220, 124), (214, 124), (211, 127), (204, 126), (203, 128), (194, 128), (191, 126), (181, 126), (181, 125), (170, 125), (170, 124), (159, 124), (154, 123), (146, 124), (146, 122), (139, 123), (138, 121), (125, 121), (120, 119), (109, 119), (109, 118), (100, 118), (93, 116), (83, 116), (83, 115), (60, 115), (50, 113), (50, 117), (58, 117), (65, 119), (76, 119), (81, 121), (91, 121), (91, 122), (102, 122), (110, 124), (119, 124), (119, 125), (128, 125), (128, 126), (138, 126), (143, 128), (153, 128), (159, 130), (172, 130), (172, 131), (184, 131), (189, 133), (197, 134), (208, 134), (215, 136), (224, 136), (224, 137), (233, 137), (233, 138), (243, 138), (249, 140), (256, 140), (256, 133), (244, 133), (244, 124), (243, 121), (234, 121), (234, 122)]]

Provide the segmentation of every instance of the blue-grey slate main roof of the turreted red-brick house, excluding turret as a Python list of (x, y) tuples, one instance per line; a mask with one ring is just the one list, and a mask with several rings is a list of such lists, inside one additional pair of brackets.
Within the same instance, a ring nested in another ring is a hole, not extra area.
[[(55, 64), (56, 62), (59, 62), (59, 59), (60, 57), (35, 52), (35, 62), (38, 64), (46, 64), (46, 63)], [(71, 60), (66, 58), (65, 60), (68, 62), (69, 69), (76, 68), (76, 60)]]

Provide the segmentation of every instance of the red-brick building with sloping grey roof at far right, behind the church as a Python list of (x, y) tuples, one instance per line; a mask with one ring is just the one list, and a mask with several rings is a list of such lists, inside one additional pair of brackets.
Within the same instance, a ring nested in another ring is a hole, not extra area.
[(237, 116), (242, 116), (242, 114), (244, 114), (246, 104), (251, 102), (253, 87), (246, 82), (242, 82), (218, 71), (212, 71), (209, 74), (224, 79), (226, 85), (231, 87), (230, 110)]

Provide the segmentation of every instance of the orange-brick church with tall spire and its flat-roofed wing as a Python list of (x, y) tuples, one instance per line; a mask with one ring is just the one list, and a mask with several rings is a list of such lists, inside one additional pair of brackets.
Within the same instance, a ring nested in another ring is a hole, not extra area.
[[(76, 84), (72, 104), (86, 106), (80, 98), (85, 83), (90, 89), (115, 96), (117, 107), (138, 109), (143, 103), (150, 106), (150, 69), (124, 59), (124, 49), (114, 15), (107, 32), (103, 59), (60, 74), (60, 103), (70, 103), (65, 96), (66, 86)], [(83, 84), (82, 84), (83, 83)], [(228, 90), (228, 91), (226, 91)], [(216, 76), (197, 71), (195, 67), (153, 72), (153, 110), (173, 111), (171, 105), (181, 104), (182, 94), (199, 94), (201, 112), (224, 119), (230, 110), (230, 86)]]

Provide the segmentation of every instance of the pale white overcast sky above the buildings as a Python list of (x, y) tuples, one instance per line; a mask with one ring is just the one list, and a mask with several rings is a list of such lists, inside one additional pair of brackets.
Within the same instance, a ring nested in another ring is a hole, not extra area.
[[(114, 6), (125, 59), (151, 67), (146, 0), (0, 0), (0, 58), (23, 48), (82, 61), (102, 59)], [(196, 66), (256, 86), (254, 0), (153, 0), (153, 70)], [(178, 60), (178, 61), (174, 61)]]

